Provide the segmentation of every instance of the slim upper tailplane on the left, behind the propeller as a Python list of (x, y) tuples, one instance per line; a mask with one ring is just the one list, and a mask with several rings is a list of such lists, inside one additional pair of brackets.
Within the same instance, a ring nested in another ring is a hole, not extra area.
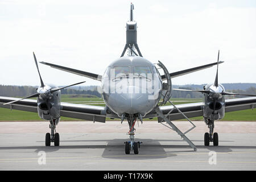
[(68, 67), (63, 67), (63, 66), (56, 65), (56, 64), (45, 63), (43, 61), (39, 62), (39, 63), (48, 65), (48, 66), (50, 66), (52, 68), (60, 69), (60, 70), (65, 71), (65, 72), (69, 72), (69, 73), (73, 73), (73, 74), (76, 74), (76, 75), (92, 78), (93, 80), (101, 81), (101, 77), (102, 77), (101, 75), (97, 75), (97, 74), (89, 73), (89, 72), (84, 72), (84, 71), (80, 71), (80, 70), (72, 69), (72, 68), (68, 68)]

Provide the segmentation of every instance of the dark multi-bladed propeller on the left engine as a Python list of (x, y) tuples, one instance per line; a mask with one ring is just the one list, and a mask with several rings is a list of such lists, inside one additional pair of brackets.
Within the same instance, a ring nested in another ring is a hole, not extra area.
[(20, 99), (15, 100), (15, 101), (7, 102), (7, 103), (5, 103), (5, 104), (3, 104), (3, 105), (6, 105), (6, 104), (13, 104), (14, 102), (18, 102), (18, 101), (24, 100), (24, 99), (26, 99), (26, 98), (32, 98), (32, 97), (39, 97), (39, 96), (40, 96), (40, 98), (42, 98), (42, 100), (45, 100), (45, 101), (46, 101), (47, 109), (48, 109), (48, 111), (49, 111), (49, 114), (51, 115), (51, 104), (49, 103), (49, 98), (52, 96), (52, 93), (53, 93), (53, 92), (56, 92), (56, 91), (58, 91), (58, 90), (67, 88), (67, 87), (69, 87), (69, 86), (82, 84), (82, 83), (84, 83), (85, 81), (78, 82), (78, 83), (76, 83), (76, 84), (72, 84), (72, 85), (68, 85), (68, 86), (63, 86), (63, 87), (61, 87), (61, 88), (51, 88), (51, 89), (48, 89), (48, 90), (47, 90), (47, 88), (45, 88), (46, 85), (44, 85), (43, 79), (42, 79), (42, 77), (41, 77), (41, 75), (40, 75), (39, 68), (38, 68), (38, 61), (36, 60), (36, 56), (35, 56), (35, 53), (34, 53), (34, 52), (33, 52), (33, 56), (34, 56), (36, 68), (38, 69), (38, 74), (39, 74), (39, 77), (40, 77), (40, 82), (41, 82), (40, 88), (42, 88), (42, 89), (38, 89), (38, 93), (32, 94), (31, 96), (27, 96), (27, 97), (20, 98)]

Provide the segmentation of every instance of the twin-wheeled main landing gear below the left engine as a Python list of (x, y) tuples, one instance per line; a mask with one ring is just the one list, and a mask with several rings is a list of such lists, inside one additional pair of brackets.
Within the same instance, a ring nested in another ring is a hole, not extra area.
[(60, 146), (60, 135), (59, 133), (56, 133), (55, 121), (50, 121), (49, 128), (51, 129), (51, 134), (46, 134), (46, 146), (51, 146), (51, 142), (54, 142), (54, 146)]

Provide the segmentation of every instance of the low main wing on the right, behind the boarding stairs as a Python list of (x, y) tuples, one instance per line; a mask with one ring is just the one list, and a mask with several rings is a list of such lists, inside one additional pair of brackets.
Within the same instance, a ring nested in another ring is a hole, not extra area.
[[(188, 118), (203, 116), (203, 106), (203, 102), (176, 105), (176, 107)], [(225, 113), (230, 111), (253, 109), (254, 107), (256, 107), (256, 97), (234, 98), (225, 101)], [(160, 106), (159, 109), (163, 114), (168, 114), (168, 117), (171, 120), (184, 119), (183, 115), (181, 115), (177, 109), (174, 109), (174, 106), (172, 105)], [(170, 111), (171, 113), (169, 113)], [(146, 118), (154, 117), (157, 117), (157, 114), (154, 111), (146, 115)], [(162, 121), (162, 118), (158, 118), (158, 121)]]

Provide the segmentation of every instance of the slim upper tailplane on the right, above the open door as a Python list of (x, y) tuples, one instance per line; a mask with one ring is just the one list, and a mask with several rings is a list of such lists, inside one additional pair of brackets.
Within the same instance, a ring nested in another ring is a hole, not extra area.
[[(171, 76), (171, 78), (175, 78), (175, 77), (178, 77), (178, 76), (187, 75), (188, 73), (197, 72), (197, 71), (200, 71), (202, 69), (210, 68), (214, 65), (221, 64), (221, 63), (224, 63), (224, 61), (211, 63), (211, 64), (205, 64), (205, 65), (202, 65), (200, 67), (189, 68), (189, 69), (184, 69), (184, 70), (181, 70), (181, 71), (178, 71), (178, 72), (173, 72), (173, 73), (170, 73), (170, 76)], [(161, 77), (162, 77), (162, 80), (166, 80), (165, 75), (162, 75)]]

